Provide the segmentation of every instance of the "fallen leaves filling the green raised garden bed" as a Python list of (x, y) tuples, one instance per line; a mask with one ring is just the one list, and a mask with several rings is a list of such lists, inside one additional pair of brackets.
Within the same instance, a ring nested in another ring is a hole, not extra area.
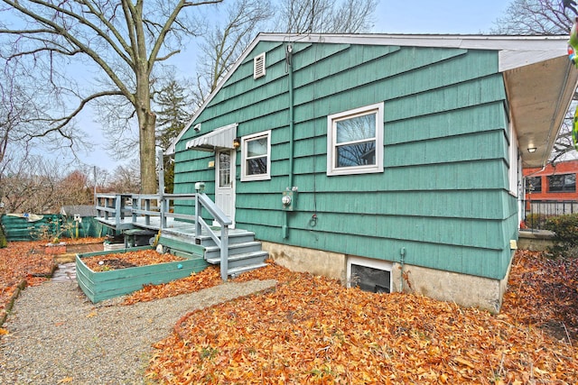
[(168, 252), (156, 252), (156, 250), (153, 249), (135, 252), (115, 252), (82, 258), (84, 264), (93, 271), (117, 270), (127, 267), (147, 266), (183, 260), (184, 258), (182, 257), (177, 257)]

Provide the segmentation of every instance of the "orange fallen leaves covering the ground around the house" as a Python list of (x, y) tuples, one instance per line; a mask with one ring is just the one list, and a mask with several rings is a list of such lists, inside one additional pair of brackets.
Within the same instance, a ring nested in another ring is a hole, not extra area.
[[(19, 282), (37, 284), (51, 271), (52, 256), (42, 251), (43, 243), (0, 249), (0, 306)], [(235, 281), (269, 279), (277, 280), (274, 289), (183, 315), (154, 344), (146, 377), (175, 384), (578, 382), (578, 260), (518, 251), (498, 316), (345, 289), (271, 261)], [(219, 268), (210, 267), (146, 286), (125, 303), (219, 283)]]

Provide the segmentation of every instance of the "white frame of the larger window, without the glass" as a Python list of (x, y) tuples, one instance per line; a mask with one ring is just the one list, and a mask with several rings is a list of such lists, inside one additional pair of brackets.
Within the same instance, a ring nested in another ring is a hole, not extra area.
[[(383, 172), (383, 103), (366, 105), (349, 111), (327, 116), (327, 175), (351, 175)], [(361, 115), (376, 115), (376, 164), (366, 166), (336, 167), (337, 122)]]

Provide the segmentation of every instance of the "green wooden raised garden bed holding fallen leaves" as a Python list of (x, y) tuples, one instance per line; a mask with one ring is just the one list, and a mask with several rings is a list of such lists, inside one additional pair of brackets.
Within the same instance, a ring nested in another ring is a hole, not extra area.
[[(132, 293), (142, 289), (144, 285), (159, 285), (178, 280), (191, 275), (192, 272), (204, 270), (208, 266), (207, 261), (202, 258), (180, 258), (173, 255), (169, 258), (172, 261), (162, 261), (163, 257), (159, 256), (160, 263), (156, 261), (154, 264), (137, 266), (139, 264), (137, 259), (123, 258), (122, 255), (127, 252), (145, 250), (153, 250), (153, 247), (143, 246), (113, 252), (77, 254), (76, 279), (80, 289), (93, 303), (97, 303), (104, 299)], [(115, 255), (118, 255), (118, 258), (115, 258)], [(144, 258), (144, 261), (147, 260)], [(98, 263), (100, 261), (103, 263)], [(89, 266), (95, 266), (94, 270)]]

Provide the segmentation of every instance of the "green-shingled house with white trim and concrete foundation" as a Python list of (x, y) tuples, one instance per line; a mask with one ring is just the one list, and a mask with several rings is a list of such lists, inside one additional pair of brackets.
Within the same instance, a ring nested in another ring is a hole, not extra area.
[(174, 192), (205, 182), (291, 269), (497, 312), (521, 166), (576, 87), (566, 41), (260, 34), (166, 151)]

